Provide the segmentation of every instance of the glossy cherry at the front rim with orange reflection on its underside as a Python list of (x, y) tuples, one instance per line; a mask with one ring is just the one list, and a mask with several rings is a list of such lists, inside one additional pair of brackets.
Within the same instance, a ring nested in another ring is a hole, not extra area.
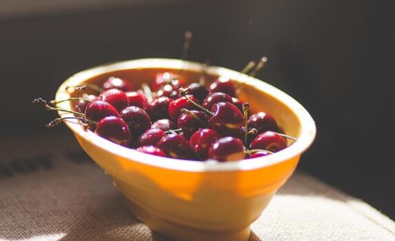
[(218, 139), (211, 144), (208, 150), (208, 157), (219, 162), (243, 160), (245, 157), (243, 142), (236, 137)]

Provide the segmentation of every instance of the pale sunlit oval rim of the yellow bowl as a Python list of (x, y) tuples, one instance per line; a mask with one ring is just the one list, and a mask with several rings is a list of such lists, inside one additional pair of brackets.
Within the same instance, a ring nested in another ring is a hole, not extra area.
[[(142, 69), (142, 68), (166, 68), (174, 70), (191, 70), (200, 72), (203, 64), (194, 61), (182, 61), (180, 59), (161, 59), (161, 58), (148, 58), (148, 59), (133, 59), (125, 61), (117, 61), (109, 64), (103, 64), (87, 70), (82, 70), (63, 81), (59, 86), (55, 100), (67, 99), (70, 94), (65, 90), (67, 86), (79, 86), (86, 79), (102, 75), (109, 72), (128, 69)], [(131, 162), (139, 162), (149, 166), (156, 166), (159, 168), (167, 168), (174, 171), (189, 171), (189, 172), (223, 172), (223, 171), (245, 171), (266, 166), (272, 166), (290, 160), (298, 155), (301, 155), (307, 148), (310, 147), (316, 136), (316, 126), (311, 115), (307, 110), (299, 104), (295, 99), (287, 95), (282, 90), (271, 86), (254, 77), (250, 77), (243, 73), (228, 68), (209, 66), (207, 73), (210, 75), (226, 76), (236, 81), (244, 81), (245, 84), (256, 86), (256, 88), (265, 90), (265, 93), (274, 97), (277, 101), (282, 102), (285, 106), (290, 108), (301, 123), (301, 134), (298, 140), (287, 148), (265, 157), (257, 157), (254, 160), (240, 160), (236, 162), (216, 162), (216, 161), (190, 161), (172, 159), (170, 157), (159, 157), (146, 153), (141, 153), (132, 148), (127, 148), (119, 144), (110, 142), (103, 137), (93, 133), (92, 131), (85, 131), (81, 124), (77, 121), (65, 121), (65, 124), (73, 131), (75, 135), (91, 142), (94, 146), (104, 149), (114, 155), (119, 155)], [(71, 109), (70, 102), (62, 102), (59, 104), (61, 108)], [(71, 117), (70, 113), (58, 112), (61, 117)]]

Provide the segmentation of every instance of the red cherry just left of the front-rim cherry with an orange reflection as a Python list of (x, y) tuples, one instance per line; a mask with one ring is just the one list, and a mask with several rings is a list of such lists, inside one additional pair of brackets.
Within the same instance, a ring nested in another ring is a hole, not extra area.
[(194, 151), (196, 151), (196, 153), (205, 160), (208, 158), (208, 148), (210, 148), (211, 144), (219, 138), (221, 138), (219, 133), (212, 129), (204, 128), (193, 133), (190, 138), (190, 145)]

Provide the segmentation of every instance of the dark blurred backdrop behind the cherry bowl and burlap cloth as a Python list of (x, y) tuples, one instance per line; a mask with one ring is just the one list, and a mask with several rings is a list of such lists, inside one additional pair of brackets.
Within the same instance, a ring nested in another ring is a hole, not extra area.
[(181, 56), (241, 69), (298, 99), (318, 128), (298, 168), (395, 218), (395, 1), (171, 1), (0, 17), (0, 133), (70, 135), (37, 110), (79, 70), (121, 59)]

